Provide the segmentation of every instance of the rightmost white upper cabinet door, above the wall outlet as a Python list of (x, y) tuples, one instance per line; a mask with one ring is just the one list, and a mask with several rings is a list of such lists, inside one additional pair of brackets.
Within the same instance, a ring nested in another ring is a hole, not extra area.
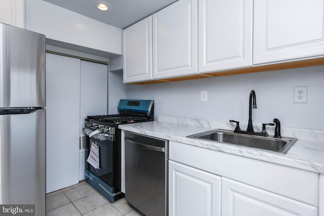
[(324, 55), (323, 0), (254, 2), (253, 63)]

